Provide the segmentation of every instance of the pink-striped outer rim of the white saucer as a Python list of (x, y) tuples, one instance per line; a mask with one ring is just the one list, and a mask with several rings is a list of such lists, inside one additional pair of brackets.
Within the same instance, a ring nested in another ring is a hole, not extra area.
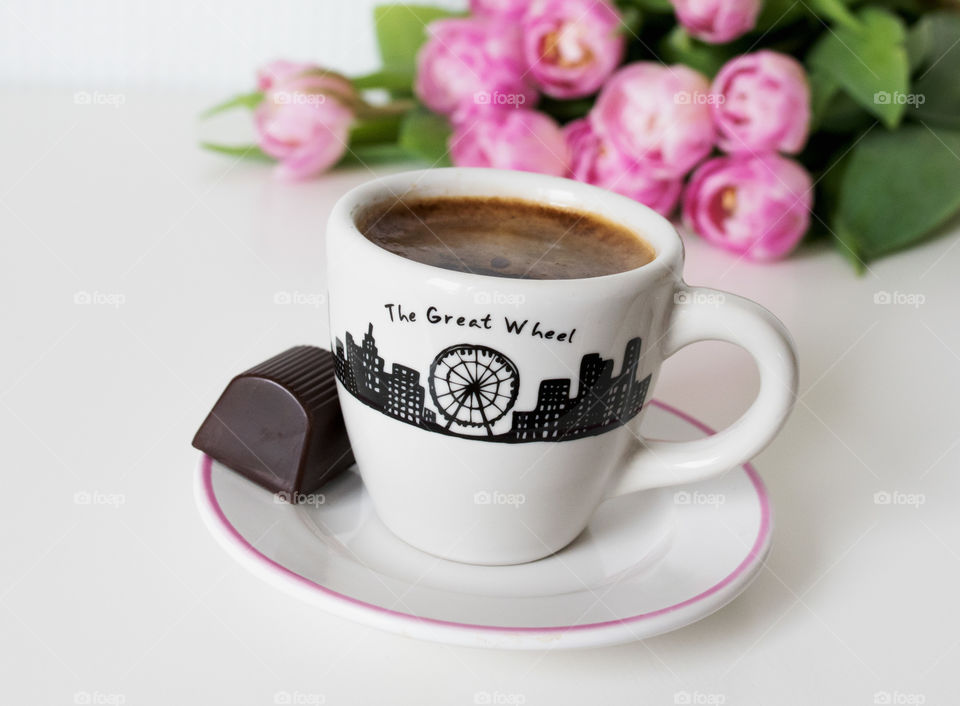
[[(675, 407), (657, 400), (652, 400), (651, 404), (688, 422), (706, 434), (715, 433), (707, 425)], [(357, 622), (412, 637), (462, 645), (508, 648), (526, 648), (534, 645), (541, 648), (550, 646), (586, 647), (617, 644), (667, 632), (706, 617), (736, 597), (756, 574), (760, 562), (770, 547), (772, 531), (770, 500), (756, 469), (747, 463), (743, 464), (742, 468), (753, 484), (760, 506), (760, 523), (756, 538), (747, 555), (732, 572), (697, 595), (657, 610), (597, 623), (547, 627), (461, 623), (404, 613), (338, 593), (290, 571), (265, 556), (250, 544), (227, 519), (214, 492), (212, 468), (213, 460), (204, 454), (200, 464), (197, 486), (197, 499), (201, 510), (204, 512), (204, 519), (228, 552), (258, 576), (299, 598)], [(694, 610), (691, 611), (691, 609)], [(681, 616), (682, 613), (687, 613), (687, 615)], [(676, 615), (675, 620), (669, 619), (672, 615)], [(648, 626), (648, 624), (650, 625)], [(626, 639), (623, 639), (624, 629), (628, 631)], [(620, 633), (620, 638), (605, 635), (611, 630)], [(458, 635), (456, 633), (464, 634)], [(557, 638), (566, 635), (581, 635), (586, 639), (576, 640), (575, 644), (563, 645), (551, 645), (549, 641), (547, 644), (542, 641), (524, 644), (525, 641), (518, 642), (516, 640), (516, 638), (524, 636)], [(498, 640), (496, 639), (498, 637), (507, 639), (506, 641)], [(493, 639), (491, 640), (491, 638)]]

